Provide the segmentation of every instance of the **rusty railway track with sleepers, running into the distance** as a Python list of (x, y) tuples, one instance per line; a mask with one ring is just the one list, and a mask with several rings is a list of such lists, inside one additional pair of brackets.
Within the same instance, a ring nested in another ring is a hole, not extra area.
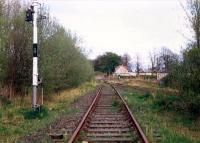
[(119, 92), (105, 85), (69, 139), (69, 143), (74, 142), (148, 143), (148, 140)]

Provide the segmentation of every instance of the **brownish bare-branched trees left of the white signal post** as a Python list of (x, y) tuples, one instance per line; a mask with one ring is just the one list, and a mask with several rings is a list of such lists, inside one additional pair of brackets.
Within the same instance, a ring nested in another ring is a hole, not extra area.
[(22, 87), (30, 83), (31, 79), (31, 28), (24, 21), (24, 11), (19, 1), (4, 3), (3, 7), (0, 37), (1, 82), (11, 91), (23, 92)]

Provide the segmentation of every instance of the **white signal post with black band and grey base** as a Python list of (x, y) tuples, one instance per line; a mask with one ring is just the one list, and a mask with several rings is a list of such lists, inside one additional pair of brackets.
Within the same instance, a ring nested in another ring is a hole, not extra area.
[(32, 72), (32, 107), (35, 109), (37, 105), (37, 88), (38, 88), (38, 3), (36, 0), (33, 1), (33, 72)]

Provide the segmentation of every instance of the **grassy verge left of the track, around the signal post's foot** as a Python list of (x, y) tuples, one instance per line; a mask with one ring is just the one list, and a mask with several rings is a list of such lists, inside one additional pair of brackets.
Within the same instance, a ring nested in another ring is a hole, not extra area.
[(44, 108), (39, 113), (31, 110), (31, 96), (13, 99), (11, 103), (0, 108), (0, 142), (14, 142), (20, 137), (48, 127), (61, 115), (77, 112), (70, 104), (95, 87), (95, 82), (88, 82), (77, 88), (62, 91), (60, 95), (44, 101)]

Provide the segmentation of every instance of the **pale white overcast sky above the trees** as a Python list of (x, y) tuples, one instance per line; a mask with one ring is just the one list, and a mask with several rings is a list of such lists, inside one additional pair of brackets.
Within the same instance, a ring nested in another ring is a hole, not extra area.
[[(94, 59), (104, 52), (128, 53), (149, 63), (149, 52), (179, 53), (190, 37), (184, 0), (40, 0), (66, 29), (82, 39)], [(183, 36), (185, 35), (185, 36)]]

